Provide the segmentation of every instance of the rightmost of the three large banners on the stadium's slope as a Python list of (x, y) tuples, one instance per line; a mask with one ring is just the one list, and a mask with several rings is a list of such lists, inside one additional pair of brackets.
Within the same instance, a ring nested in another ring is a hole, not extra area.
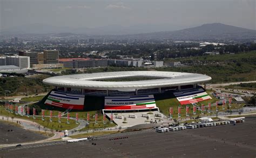
[(174, 92), (173, 94), (179, 100), (181, 105), (198, 103), (203, 100), (211, 99), (204, 89), (201, 88)]

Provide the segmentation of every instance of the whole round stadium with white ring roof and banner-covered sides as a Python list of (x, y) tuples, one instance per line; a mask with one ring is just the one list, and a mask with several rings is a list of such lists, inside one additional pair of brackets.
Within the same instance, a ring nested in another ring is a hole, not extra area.
[[(198, 84), (211, 77), (171, 71), (117, 71), (46, 78), (55, 88), (45, 105), (72, 110), (142, 112), (158, 110), (156, 98), (174, 96), (181, 105), (211, 99)], [(159, 110), (158, 110), (159, 111)]]

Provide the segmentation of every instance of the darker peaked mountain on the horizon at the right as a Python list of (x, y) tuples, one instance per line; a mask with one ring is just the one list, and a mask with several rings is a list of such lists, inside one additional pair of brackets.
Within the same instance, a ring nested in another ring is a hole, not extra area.
[(206, 39), (256, 39), (256, 30), (225, 25), (221, 23), (204, 24), (178, 31), (164, 31), (129, 35), (137, 39), (173, 39), (173, 40), (206, 40)]

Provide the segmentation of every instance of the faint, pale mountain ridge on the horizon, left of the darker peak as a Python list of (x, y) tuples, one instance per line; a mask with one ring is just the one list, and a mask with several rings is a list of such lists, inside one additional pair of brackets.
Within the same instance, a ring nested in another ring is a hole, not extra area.
[(5, 30), (0, 30), (2, 34), (42, 34), (42, 33), (63, 33), (70, 32), (76, 34), (88, 34), (88, 35), (122, 35), (122, 34), (138, 34), (149, 33), (156, 31), (172, 31), (178, 30), (180, 26), (173, 24), (139, 24), (133, 26), (120, 26), (120, 25), (107, 25), (99, 26), (95, 28), (89, 27), (77, 27), (70, 28), (66, 26), (57, 27), (45, 24), (29, 24), (23, 26), (10, 27)]

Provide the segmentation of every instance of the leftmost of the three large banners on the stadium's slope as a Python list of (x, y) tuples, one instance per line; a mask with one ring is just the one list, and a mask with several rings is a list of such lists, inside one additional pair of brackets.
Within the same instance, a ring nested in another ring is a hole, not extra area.
[(84, 109), (84, 95), (67, 94), (64, 92), (51, 91), (45, 100), (46, 105), (58, 106), (64, 109)]

